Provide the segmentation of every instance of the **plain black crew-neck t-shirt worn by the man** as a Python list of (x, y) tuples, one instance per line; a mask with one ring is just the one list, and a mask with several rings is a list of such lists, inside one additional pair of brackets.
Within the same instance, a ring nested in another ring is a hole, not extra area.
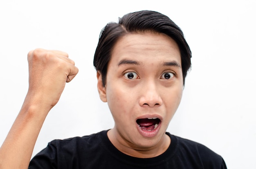
[(29, 169), (227, 169), (222, 157), (204, 145), (166, 134), (171, 144), (154, 158), (122, 153), (112, 145), (107, 131), (53, 140), (32, 158)]

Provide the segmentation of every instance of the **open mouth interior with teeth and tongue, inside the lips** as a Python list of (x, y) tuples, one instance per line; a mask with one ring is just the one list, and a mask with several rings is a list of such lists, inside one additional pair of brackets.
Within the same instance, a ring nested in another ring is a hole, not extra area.
[(158, 118), (138, 119), (136, 120), (136, 122), (142, 130), (153, 131), (159, 125), (160, 119)]

